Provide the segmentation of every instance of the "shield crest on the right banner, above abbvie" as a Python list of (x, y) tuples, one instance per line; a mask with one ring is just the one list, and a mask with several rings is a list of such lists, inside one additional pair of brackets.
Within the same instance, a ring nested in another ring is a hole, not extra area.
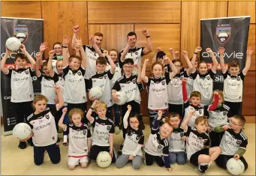
[(227, 42), (227, 40), (230, 38), (231, 34), (231, 26), (226, 24), (226, 25), (218, 25), (216, 27), (216, 38), (219, 43), (224, 45), (224, 43)]

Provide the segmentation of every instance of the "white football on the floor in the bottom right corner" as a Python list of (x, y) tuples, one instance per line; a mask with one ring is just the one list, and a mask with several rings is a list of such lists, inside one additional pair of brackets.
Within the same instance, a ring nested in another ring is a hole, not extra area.
[(241, 160), (230, 158), (230, 160), (227, 161), (227, 171), (230, 172), (231, 175), (241, 175), (245, 171), (245, 165)]

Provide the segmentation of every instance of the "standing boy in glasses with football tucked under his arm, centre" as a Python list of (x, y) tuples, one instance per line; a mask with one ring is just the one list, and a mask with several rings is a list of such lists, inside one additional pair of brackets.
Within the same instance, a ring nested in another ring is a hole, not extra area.
[[(127, 58), (125, 59), (123, 63), (123, 76), (119, 78), (116, 81), (116, 84), (113, 86), (112, 89), (112, 96), (113, 100), (115, 102), (119, 102), (119, 98), (116, 94), (117, 91), (123, 91), (126, 94), (127, 97), (127, 102), (122, 105), (122, 112), (127, 111), (127, 106), (131, 105), (132, 113), (134, 114), (140, 114), (140, 91), (143, 91), (143, 84), (141, 82), (141, 70), (140, 67), (138, 68), (138, 75), (132, 73), (134, 69), (134, 60), (132, 58)], [(140, 124), (142, 125), (142, 128), (144, 129), (145, 127), (142, 121), (142, 117), (140, 116)], [(125, 139), (125, 128), (122, 128), (123, 131), (123, 138)]]

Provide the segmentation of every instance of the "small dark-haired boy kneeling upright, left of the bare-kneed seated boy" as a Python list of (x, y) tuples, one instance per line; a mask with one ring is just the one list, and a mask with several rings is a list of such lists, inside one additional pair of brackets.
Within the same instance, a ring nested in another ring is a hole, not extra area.
[(187, 162), (187, 154), (185, 153), (185, 131), (181, 127), (182, 118), (179, 113), (170, 112), (168, 117), (163, 120), (164, 122), (169, 121), (169, 124), (173, 127), (173, 133), (168, 138), (170, 164), (184, 165)]

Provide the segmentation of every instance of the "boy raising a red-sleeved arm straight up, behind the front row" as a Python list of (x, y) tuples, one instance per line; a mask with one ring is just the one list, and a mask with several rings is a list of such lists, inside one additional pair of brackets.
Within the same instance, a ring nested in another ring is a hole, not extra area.
[(194, 121), (197, 117), (208, 115), (207, 114), (207, 108), (208, 106), (203, 106), (201, 104), (201, 94), (199, 91), (192, 91), (190, 94), (190, 98), (188, 99), (187, 89), (186, 89), (186, 82), (188, 81), (188, 78), (182, 79), (182, 94), (183, 94), (183, 102), (184, 102), (184, 116), (183, 120), (185, 120), (186, 117), (188, 117), (189, 111), (194, 110), (194, 114), (188, 121), (189, 127), (194, 127)]

